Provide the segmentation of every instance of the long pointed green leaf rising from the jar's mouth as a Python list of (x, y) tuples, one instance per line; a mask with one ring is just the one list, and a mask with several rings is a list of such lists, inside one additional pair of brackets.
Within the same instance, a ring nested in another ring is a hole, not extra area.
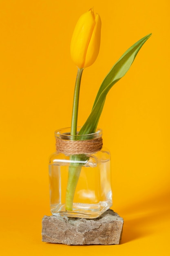
[(79, 131), (79, 135), (90, 134), (96, 131), (100, 115), (102, 114), (102, 110), (104, 107), (104, 102), (106, 99), (106, 95), (108, 94), (109, 90), (112, 86), (117, 83), (130, 69), (133, 61), (139, 50), (141, 49), (142, 45), (148, 40), (148, 38), (152, 34), (148, 34), (144, 38), (141, 38), (137, 43), (132, 45), (122, 56), (119, 60), (113, 65), (110, 72), (105, 77), (102, 85), (99, 88), (97, 93), (93, 109), (91, 114), (89, 115), (88, 119), (86, 120), (84, 126), (82, 126), (81, 130)]

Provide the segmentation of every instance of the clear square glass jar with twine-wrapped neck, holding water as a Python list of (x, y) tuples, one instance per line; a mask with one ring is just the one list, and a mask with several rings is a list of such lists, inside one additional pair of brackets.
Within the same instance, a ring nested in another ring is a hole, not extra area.
[(55, 138), (57, 151), (49, 160), (51, 213), (101, 216), (112, 206), (110, 153), (102, 146), (102, 130), (71, 136), (64, 128), (55, 131)]

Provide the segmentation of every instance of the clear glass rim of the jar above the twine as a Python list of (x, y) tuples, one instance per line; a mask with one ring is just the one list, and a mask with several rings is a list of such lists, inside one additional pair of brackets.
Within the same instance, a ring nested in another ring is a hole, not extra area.
[(70, 135), (70, 130), (71, 127), (66, 127), (66, 128), (60, 128), (58, 130), (55, 130), (55, 138), (57, 139), (66, 139), (66, 140), (87, 140), (87, 139), (95, 139), (99, 138), (102, 136), (102, 129), (97, 128), (95, 132), (90, 133), (90, 134), (84, 134), (84, 135), (79, 135), (78, 132), (82, 128), (82, 126), (77, 126), (77, 135)]

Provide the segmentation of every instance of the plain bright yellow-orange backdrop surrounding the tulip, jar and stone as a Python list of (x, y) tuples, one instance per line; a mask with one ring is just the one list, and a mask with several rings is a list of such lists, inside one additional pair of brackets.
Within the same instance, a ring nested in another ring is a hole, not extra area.
[[(69, 46), (79, 16), (102, 19), (97, 61), (84, 70), (79, 121), (112, 65), (152, 32), (110, 91), (99, 121), (111, 151), (113, 207), (124, 218), (120, 245), (41, 242), (50, 215), (48, 157), (54, 131), (71, 123), (77, 69)], [(0, 0), (0, 254), (169, 255), (169, 0)]]

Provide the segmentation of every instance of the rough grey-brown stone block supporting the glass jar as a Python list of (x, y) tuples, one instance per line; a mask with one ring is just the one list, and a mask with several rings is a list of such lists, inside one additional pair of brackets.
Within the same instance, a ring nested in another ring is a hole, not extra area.
[(118, 245), (124, 220), (109, 209), (96, 219), (44, 216), (42, 241), (65, 245)]

